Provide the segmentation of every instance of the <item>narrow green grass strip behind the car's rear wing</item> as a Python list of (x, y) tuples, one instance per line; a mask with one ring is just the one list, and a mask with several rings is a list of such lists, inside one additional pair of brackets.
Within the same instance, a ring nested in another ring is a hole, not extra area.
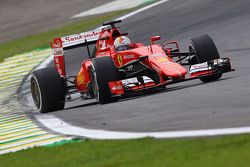
[(3, 61), (4, 58), (13, 56), (15, 54), (28, 52), (37, 48), (47, 48), (50, 45), (50, 40), (52, 40), (54, 37), (80, 33), (92, 28), (96, 28), (102, 22), (112, 20), (115, 17), (127, 13), (131, 10), (133, 9), (88, 17), (61, 28), (29, 35), (20, 39), (0, 44), (0, 62)]

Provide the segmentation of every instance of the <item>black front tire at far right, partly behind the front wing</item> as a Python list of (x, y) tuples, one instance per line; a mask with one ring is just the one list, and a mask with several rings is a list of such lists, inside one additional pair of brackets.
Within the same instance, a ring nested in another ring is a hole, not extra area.
[[(190, 52), (195, 54), (198, 63), (204, 63), (214, 59), (219, 59), (218, 50), (214, 41), (208, 35), (201, 35), (191, 39)], [(200, 78), (202, 82), (212, 82), (221, 78), (222, 74), (214, 74)]]

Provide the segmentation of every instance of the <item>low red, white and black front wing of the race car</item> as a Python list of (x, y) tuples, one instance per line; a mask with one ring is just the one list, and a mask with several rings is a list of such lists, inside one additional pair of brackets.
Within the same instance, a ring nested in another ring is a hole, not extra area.
[(132, 92), (149, 90), (178, 82), (199, 79), (214, 74), (226, 73), (234, 71), (234, 69), (231, 68), (229, 58), (221, 58), (208, 61), (205, 63), (191, 65), (189, 71), (190, 71), (189, 78), (183, 78), (179, 80), (168, 80), (160, 84), (156, 84), (152, 79), (146, 76), (113, 81), (109, 82), (108, 84), (110, 92), (113, 96), (123, 96), (130, 94)]

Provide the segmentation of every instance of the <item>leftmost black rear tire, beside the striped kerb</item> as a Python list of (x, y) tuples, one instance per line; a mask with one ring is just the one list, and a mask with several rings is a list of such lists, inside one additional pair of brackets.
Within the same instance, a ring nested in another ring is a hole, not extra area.
[(64, 108), (65, 84), (55, 68), (39, 69), (32, 73), (31, 94), (40, 113)]

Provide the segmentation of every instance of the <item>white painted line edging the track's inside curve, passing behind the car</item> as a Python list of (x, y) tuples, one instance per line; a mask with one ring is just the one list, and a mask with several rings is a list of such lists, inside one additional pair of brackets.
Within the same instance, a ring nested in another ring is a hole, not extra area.
[[(147, 9), (153, 8), (157, 5), (165, 3), (169, 0), (161, 0), (118, 19), (124, 20), (137, 13), (143, 12)], [(41, 66), (46, 67), (50, 60), (44, 62)], [(40, 66), (40, 68), (41, 68)], [(154, 138), (180, 138), (180, 137), (201, 137), (201, 136), (216, 136), (216, 135), (231, 135), (250, 133), (250, 127), (235, 127), (235, 128), (223, 128), (223, 129), (204, 129), (204, 130), (184, 130), (184, 131), (166, 131), (166, 132), (119, 132), (119, 131), (107, 131), (97, 129), (86, 129), (82, 127), (72, 126), (63, 120), (50, 115), (40, 114), (35, 116), (36, 119), (42, 123), (45, 127), (52, 131), (59, 132), (66, 135), (81, 136), (93, 139), (132, 139), (143, 137)]]

